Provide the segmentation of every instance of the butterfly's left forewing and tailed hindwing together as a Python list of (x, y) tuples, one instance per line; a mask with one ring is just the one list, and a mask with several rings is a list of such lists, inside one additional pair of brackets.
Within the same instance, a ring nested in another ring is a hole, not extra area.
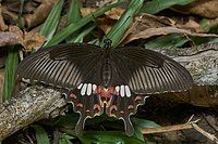
[[(20, 63), (16, 76), (68, 89), (64, 91), (66, 97), (72, 102), (74, 112), (81, 115), (75, 128), (76, 133), (81, 133), (86, 118), (93, 118), (104, 112), (99, 96), (93, 90), (94, 86), (102, 84), (101, 55), (102, 49), (92, 44), (56, 45), (27, 56)], [(85, 84), (78, 88), (82, 83)], [(90, 83), (95, 84), (89, 87)], [(85, 90), (84, 94), (81, 89)]]

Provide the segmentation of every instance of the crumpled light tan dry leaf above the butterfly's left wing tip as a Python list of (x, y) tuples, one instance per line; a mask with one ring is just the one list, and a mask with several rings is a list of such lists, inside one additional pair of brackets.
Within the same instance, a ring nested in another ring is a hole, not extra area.
[(23, 32), (16, 26), (10, 26), (9, 30), (19, 36), (19, 43), (21, 43), (27, 52), (32, 51), (32, 49), (38, 50), (46, 41), (46, 38), (38, 32)]

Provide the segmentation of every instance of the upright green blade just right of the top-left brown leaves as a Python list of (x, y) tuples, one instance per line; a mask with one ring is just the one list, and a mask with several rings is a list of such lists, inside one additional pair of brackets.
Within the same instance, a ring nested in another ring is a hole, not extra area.
[(44, 26), (39, 31), (40, 35), (46, 37), (47, 41), (49, 41), (53, 37), (53, 34), (56, 32), (56, 29), (60, 21), (63, 2), (64, 0), (59, 0), (56, 3), (56, 5), (49, 13), (46, 22), (44, 23)]

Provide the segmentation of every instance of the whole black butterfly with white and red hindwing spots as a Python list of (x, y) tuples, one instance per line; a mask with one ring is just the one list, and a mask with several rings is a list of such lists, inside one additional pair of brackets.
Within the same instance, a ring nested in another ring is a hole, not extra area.
[(74, 112), (81, 114), (76, 133), (86, 118), (106, 113), (124, 121), (128, 135), (134, 128), (130, 116), (148, 94), (178, 92), (193, 86), (189, 71), (173, 60), (140, 47), (105, 49), (71, 43), (41, 49), (22, 61), (17, 78), (68, 89)]

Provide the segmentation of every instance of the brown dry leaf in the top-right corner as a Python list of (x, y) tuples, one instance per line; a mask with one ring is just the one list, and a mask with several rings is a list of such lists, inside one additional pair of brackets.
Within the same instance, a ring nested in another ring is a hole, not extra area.
[(196, 0), (187, 5), (175, 5), (175, 11), (185, 14), (196, 14), (207, 18), (218, 17), (218, 0)]

